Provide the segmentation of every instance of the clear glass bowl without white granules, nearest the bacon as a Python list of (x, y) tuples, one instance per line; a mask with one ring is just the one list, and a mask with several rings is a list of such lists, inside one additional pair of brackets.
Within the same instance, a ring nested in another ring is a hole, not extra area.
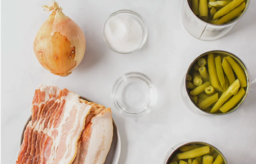
[(129, 72), (116, 80), (111, 98), (118, 112), (128, 117), (139, 117), (154, 108), (157, 89), (147, 75)]

